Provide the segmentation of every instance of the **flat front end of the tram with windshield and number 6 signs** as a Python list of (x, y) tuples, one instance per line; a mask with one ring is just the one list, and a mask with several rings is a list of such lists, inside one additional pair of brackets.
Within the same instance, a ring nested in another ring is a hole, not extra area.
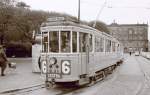
[(55, 31), (42, 31), (41, 72), (46, 75), (48, 83), (77, 82), (80, 68), (78, 33), (71, 27), (57, 28)]

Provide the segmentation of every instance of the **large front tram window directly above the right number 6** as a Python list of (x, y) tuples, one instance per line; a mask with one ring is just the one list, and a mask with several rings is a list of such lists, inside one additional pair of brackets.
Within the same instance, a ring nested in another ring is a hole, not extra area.
[(61, 31), (61, 52), (70, 51), (70, 31)]

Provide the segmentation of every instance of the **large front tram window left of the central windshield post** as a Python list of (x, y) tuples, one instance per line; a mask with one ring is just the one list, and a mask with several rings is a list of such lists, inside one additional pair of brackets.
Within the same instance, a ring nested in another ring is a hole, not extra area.
[(53, 31), (49, 33), (49, 51), (59, 52), (59, 32)]

